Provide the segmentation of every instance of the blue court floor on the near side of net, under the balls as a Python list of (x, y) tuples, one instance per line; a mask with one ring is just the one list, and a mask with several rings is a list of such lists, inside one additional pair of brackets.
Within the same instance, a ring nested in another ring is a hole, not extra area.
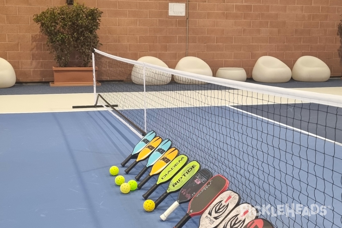
[(143, 164), (127, 175), (120, 163), (140, 138), (108, 111), (0, 114), (0, 126), (0, 227), (162, 228), (185, 215), (181, 205), (167, 221), (159, 218), (177, 194), (144, 211), (142, 195), (157, 177), (141, 190), (120, 192), (109, 167), (134, 179)]

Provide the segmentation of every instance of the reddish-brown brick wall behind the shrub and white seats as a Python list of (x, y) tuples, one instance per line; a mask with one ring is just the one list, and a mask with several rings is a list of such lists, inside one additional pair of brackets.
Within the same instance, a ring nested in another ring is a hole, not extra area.
[[(53, 81), (56, 64), (32, 18), (65, 2), (0, 0), (0, 57), (12, 64), (17, 81)], [(186, 0), (84, 2), (103, 11), (102, 51), (131, 59), (152, 55), (170, 68), (186, 55), (186, 19), (168, 16), (169, 2)], [(340, 14), (341, 0), (189, 0), (188, 55), (205, 60), (214, 72), (243, 67), (248, 76), (263, 55), (290, 68), (300, 56), (313, 55), (340, 76)]]

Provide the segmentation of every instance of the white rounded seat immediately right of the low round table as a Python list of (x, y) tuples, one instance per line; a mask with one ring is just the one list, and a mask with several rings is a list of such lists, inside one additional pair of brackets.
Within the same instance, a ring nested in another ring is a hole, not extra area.
[(291, 75), (291, 69), (272, 56), (260, 57), (252, 71), (252, 78), (257, 82), (288, 82)]

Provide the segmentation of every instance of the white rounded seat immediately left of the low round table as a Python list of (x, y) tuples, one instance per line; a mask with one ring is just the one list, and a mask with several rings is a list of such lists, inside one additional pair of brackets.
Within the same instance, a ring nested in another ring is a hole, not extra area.
[[(202, 59), (194, 56), (186, 56), (180, 59), (177, 63), (175, 70), (182, 70), (190, 73), (197, 73), (199, 75), (213, 76), (213, 72), (209, 65)], [(178, 75), (174, 76), (174, 80), (181, 84), (205, 84), (205, 82), (184, 78)]]

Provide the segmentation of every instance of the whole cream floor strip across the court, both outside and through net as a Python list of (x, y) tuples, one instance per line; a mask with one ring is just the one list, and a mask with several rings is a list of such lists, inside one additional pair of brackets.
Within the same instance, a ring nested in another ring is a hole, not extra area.
[[(300, 88), (295, 90), (332, 94), (341, 96), (341, 87), (327, 88)], [(139, 93), (139, 92), (137, 92)], [(124, 101), (124, 96), (129, 93), (119, 93), (120, 96), (110, 94), (114, 97), (111, 102)], [(133, 94), (132, 94), (133, 95)], [(247, 96), (246, 96), (247, 95)], [(129, 96), (129, 95), (128, 95)], [(106, 97), (106, 96), (105, 96)], [(137, 102), (143, 105), (143, 96), (141, 101)], [(174, 98), (170, 100), (170, 98)], [(246, 98), (247, 97), (247, 98)], [(158, 98), (159, 100), (156, 100)], [(219, 99), (218, 99), (219, 98)], [(223, 98), (225, 100), (223, 100)], [(117, 99), (117, 100), (116, 100)], [(176, 101), (176, 103), (175, 103)], [(242, 90), (207, 90), (207, 91), (167, 91), (153, 92), (147, 95), (146, 103), (148, 108), (162, 107), (188, 107), (188, 106), (207, 106), (207, 105), (236, 105), (236, 104), (266, 104), (266, 103), (294, 103), (297, 100), (284, 99), (275, 96), (268, 96), (259, 93), (252, 93)], [(27, 113), (27, 112), (61, 112), (61, 111), (88, 111), (104, 110), (104, 108), (82, 108), (73, 109), (78, 105), (94, 105), (93, 93), (75, 93), (75, 94), (35, 94), (35, 95), (1, 95), (0, 113)], [(136, 105), (126, 104), (125, 108), (142, 108)], [(120, 106), (119, 106), (120, 107)]]

